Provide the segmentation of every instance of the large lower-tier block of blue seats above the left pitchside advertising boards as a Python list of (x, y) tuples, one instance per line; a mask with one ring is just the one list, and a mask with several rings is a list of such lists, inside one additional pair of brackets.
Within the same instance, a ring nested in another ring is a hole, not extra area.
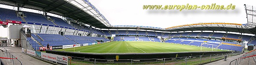
[(41, 38), (44, 39), (44, 41), (39, 41), (43, 46), (47, 46), (47, 44), (50, 44), (50, 46), (76, 44), (74, 41), (71, 41), (62, 35), (57, 35), (57, 34), (37, 34), (37, 35), (39, 35)]

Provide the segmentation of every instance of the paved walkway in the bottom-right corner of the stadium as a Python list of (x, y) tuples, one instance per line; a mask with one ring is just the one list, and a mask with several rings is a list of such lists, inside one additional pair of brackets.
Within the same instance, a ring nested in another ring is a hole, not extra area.
[[(205, 64), (205, 65), (229, 65), (232, 60), (238, 59), (238, 57), (240, 57), (244, 54), (240, 54), (237, 56), (229, 56), (227, 58), (227, 61), (224, 61), (224, 59), (221, 59), (219, 61), (211, 62), (211, 63)], [(240, 59), (239, 59), (239, 61), (240, 61)], [(235, 61), (233, 61), (231, 63), (231, 65), (235, 65)], [(248, 58), (241, 60), (241, 62), (238, 62), (238, 65), (249, 65)], [(254, 62), (253, 57), (250, 57), (250, 65), (256, 65), (256, 62)]]

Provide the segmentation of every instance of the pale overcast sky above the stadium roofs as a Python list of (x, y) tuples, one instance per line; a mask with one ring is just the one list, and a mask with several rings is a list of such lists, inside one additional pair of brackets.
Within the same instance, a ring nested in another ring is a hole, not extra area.
[[(226, 22), (246, 24), (244, 4), (256, 6), (253, 0), (89, 0), (111, 25), (173, 27), (183, 24)], [(234, 10), (145, 10), (143, 5), (235, 5)], [(0, 36), (7, 36), (0, 27)]]

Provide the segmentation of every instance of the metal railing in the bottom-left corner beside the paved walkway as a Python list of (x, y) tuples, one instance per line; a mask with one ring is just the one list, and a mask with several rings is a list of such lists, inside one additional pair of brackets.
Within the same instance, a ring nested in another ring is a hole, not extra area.
[[(2, 46), (1, 46), (2, 47)], [(5, 55), (8, 57), (8, 58), (12, 58), (10, 59), (10, 61), (12, 62), (13, 65), (22, 65), (22, 62), (20, 60), (17, 59), (17, 57), (13, 56), (9, 50), (7, 50), (5, 47), (2, 47), (3, 50), (4, 50), (4, 53)], [(13, 60), (15, 59), (15, 60)]]

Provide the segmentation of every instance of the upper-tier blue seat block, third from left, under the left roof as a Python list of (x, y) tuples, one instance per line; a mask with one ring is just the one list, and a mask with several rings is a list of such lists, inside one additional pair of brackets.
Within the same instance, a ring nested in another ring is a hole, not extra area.
[(57, 26), (68, 27), (68, 28), (74, 29), (74, 27), (72, 27), (70, 24), (68, 24), (67, 22), (65, 22), (61, 18), (56, 18), (56, 17), (53, 17), (53, 16), (49, 16), (49, 17), (54, 19), (54, 23), (57, 24)]

